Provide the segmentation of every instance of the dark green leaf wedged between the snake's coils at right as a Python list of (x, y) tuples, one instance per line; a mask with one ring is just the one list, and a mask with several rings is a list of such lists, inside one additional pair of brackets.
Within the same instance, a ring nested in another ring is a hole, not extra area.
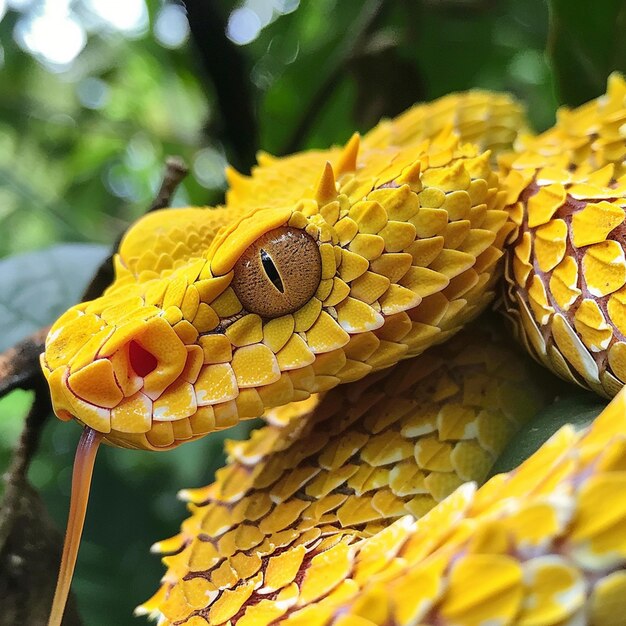
[(607, 401), (595, 394), (577, 390), (555, 400), (520, 429), (494, 463), (489, 478), (515, 469), (561, 426), (572, 424), (577, 430), (586, 428), (606, 405)]

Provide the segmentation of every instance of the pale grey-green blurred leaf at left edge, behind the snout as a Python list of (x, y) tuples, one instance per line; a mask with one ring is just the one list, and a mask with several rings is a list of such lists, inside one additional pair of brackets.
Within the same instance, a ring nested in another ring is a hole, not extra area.
[(63, 244), (0, 260), (0, 351), (78, 302), (107, 246)]

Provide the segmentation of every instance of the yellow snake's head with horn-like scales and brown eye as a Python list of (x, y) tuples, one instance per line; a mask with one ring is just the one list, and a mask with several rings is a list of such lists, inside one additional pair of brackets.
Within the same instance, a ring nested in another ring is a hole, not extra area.
[(489, 301), (505, 194), (489, 153), (450, 129), (268, 169), (304, 171), (280, 204), (169, 209), (129, 230), (115, 282), (48, 336), (61, 419), (173, 447), (415, 356)]

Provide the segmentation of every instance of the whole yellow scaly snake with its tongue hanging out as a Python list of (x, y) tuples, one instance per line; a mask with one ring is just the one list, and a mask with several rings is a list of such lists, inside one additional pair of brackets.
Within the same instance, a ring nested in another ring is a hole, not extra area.
[(182, 492), (191, 516), (155, 544), (167, 573), (139, 613), (626, 623), (626, 392), (477, 489), (552, 397), (492, 317), (473, 322), (506, 291), (536, 360), (618, 394), (625, 129), (619, 75), (538, 136), (509, 96), (455, 94), (345, 146), (261, 153), (251, 176), (228, 172), (223, 207), (139, 220), (114, 283), (65, 313), (42, 355), (87, 450), (50, 624), (100, 439), (165, 450), (262, 415), (215, 483)]

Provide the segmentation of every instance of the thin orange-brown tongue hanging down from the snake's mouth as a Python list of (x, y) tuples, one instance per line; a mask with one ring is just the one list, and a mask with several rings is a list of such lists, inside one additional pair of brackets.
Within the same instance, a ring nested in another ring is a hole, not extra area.
[(70, 512), (67, 517), (61, 568), (59, 570), (59, 578), (57, 579), (57, 587), (54, 592), (54, 600), (52, 601), (48, 626), (61, 626), (61, 621), (63, 620), (63, 612), (65, 611), (65, 604), (70, 593), (74, 566), (76, 565), (76, 557), (80, 545), (80, 537), (85, 522), (85, 513), (87, 512), (93, 464), (96, 460), (96, 453), (98, 452), (101, 441), (102, 433), (92, 428), (85, 427), (83, 434), (80, 436), (78, 447), (76, 448), (74, 470), (72, 472)]

